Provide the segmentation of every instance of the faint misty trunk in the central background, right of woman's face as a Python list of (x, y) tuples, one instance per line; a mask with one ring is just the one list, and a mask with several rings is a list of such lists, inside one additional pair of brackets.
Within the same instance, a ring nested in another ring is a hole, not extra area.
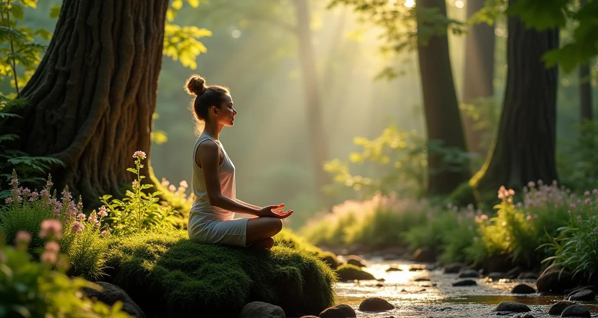
[(318, 75), (313, 54), (312, 36), (309, 27), (309, 9), (306, 0), (295, 0), (297, 31), (299, 36), (299, 59), (306, 95), (309, 141), (312, 146), (312, 160), (315, 170), (316, 192), (321, 203), (326, 203), (323, 188), (330, 182), (322, 165), (328, 159), (328, 145), (321, 115), (321, 99), (318, 91)]

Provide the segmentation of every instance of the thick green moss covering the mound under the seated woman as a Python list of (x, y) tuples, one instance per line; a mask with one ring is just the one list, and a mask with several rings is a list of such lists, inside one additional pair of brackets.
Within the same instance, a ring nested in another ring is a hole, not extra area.
[(115, 240), (111, 247), (111, 281), (157, 316), (238, 316), (250, 301), (279, 305), (288, 315), (319, 313), (334, 302), (334, 271), (305, 251), (208, 245), (191, 242), (184, 230)]

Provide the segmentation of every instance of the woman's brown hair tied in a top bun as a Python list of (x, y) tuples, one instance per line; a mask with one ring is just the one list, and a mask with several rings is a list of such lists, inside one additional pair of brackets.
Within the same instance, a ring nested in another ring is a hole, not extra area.
[(195, 122), (196, 135), (202, 133), (202, 126), (208, 120), (210, 106), (220, 107), (224, 95), (229, 94), (228, 88), (218, 85), (206, 85), (206, 79), (199, 75), (192, 75), (185, 82), (185, 91), (190, 95), (196, 95), (190, 104), (191, 112)]

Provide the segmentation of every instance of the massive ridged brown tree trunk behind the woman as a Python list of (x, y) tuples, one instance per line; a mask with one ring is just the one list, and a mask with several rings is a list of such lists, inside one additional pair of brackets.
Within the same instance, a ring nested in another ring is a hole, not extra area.
[(126, 171), (133, 152), (149, 156), (167, 6), (65, 0), (47, 53), (23, 89), (29, 106), (11, 123), (19, 148), (65, 162), (51, 171), (53, 181), (86, 204), (133, 180)]

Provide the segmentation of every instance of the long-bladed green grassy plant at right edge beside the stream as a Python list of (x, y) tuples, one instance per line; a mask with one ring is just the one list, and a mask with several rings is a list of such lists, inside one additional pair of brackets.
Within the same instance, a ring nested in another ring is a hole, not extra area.
[(542, 247), (554, 252), (542, 262), (550, 262), (582, 278), (591, 279), (598, 268), (598, 215), (582, 218), (570, 215), (567, 226), (559, 228), (559, 234), (551, 237)]

